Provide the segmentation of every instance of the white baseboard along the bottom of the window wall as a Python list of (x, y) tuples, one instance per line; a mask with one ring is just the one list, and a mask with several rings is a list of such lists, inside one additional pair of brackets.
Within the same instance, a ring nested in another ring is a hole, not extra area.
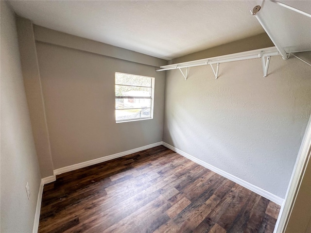
[(105, 161), (108, 161), (108, 160), (120, 158), (120, 157), (129, 155), (129, 154), (133, 154), (133, 153), (139, 152), (141, 150), (147, 150), (147, 149), (150, 149), (150, 148), (153, 148), (153, 147), (157, 147), (157, 146), (160, 146), (160, 145), (162, 145), (162, 142), (157, 142), (157, 143), (149, 144), (149, 145), (146, 145), (146, 146), (143, 146), (143, 147), (138, 147), (138, 148), (132, 149), (132, 150), (126, 150), (126, 151), (123, 151), (123, 152), (120, 152), (120, 153), (111, 154), (111, 155), (108, 155), (108, 156), (104, 156), (104, 157), (101, 157), (101, 158), (98, 158), (98, 159), (89, 160), (89, 161), (82, 162), (82, 163), (79, 163), (79, 164), (65, 166), (65, 167), (62, 167), (62, 168), (55, 169), (53, 171), (53, 174), (54, 174), (54, 176), (56, 176), (56, 175), (59, 175), (59, 174), (65, 173), (65, 172), (73, 171), (73, 170), (76, 170), (76, 169), (79, 169), (79, 168), (83, 168), (83, 167), (86, 167), (86, 166), (91, 166), (91, 165), (94, 165), (94, 164), (99, 164), (99, 163), (102, 163), (102, 162), (105, 162)]

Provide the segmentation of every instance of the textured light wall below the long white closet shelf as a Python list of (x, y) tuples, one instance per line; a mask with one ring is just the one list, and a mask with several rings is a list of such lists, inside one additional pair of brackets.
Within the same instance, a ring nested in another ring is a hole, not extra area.
[(163, 141), (285, 197), (311, 113), (311, 69), (296, 58), (167, 71)]

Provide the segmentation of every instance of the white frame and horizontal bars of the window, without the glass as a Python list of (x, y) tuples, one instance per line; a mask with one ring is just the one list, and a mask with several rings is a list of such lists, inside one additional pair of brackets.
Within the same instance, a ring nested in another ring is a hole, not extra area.
[[(122, 72), (115, 72), (115, 88), (116, 88), (116, 85), (139, 87), (139, 86), (135, 86), (135, 85), (117, 84), (116, 83), (116, 75), (118, 73), (119, 74), (127, 74), (127, 73), (122, 73)], [(154, 98), (155, 97), (155, 78), (154, 77), (149, 77), (149, 76), (137, 75), (137, 74), (127, 74), (127, 75), (132, 75), (132, 76), (137, 76), (137, 77), (144, 77), (144, 78), (150, 78), (151, 79), (151, 97), (116, 96), (116, 92), (115, 92), (115, 105), (116, 105), (116, 100), (117, 99), (150, 99), (151, 100), (151, 103), (150, 103), (150, 116), (117, 120), (116, 119), (116, 110), (123, 110), (123, 109), (117, 109), (116, 106), (115, 106), (115, 121), (116, 121), (116, 123), (153, 119), (154, 118), (154, 99), (155, 99)], [(141, 86), (141, 87), (149, 87), (149, 86)], [(125, 109), (131, 109), (131, 108), (125, 108)], [(139, 109), (139, 108), (133, 108), (133, 109)], [(146, 108), (141, 108), (141, 109), (146, 109)]]

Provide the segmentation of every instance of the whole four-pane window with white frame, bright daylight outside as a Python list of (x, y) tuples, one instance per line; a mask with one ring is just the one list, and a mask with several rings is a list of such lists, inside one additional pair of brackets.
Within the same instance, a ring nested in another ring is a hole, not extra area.
[(155, 78), (116, 72), (116, 122), (152, 119)]

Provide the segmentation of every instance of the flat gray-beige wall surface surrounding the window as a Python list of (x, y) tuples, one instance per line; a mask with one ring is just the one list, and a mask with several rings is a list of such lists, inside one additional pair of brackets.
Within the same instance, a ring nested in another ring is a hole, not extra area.
[[(162, 141), (164, 72), (41, 42), (36, 49), (54, 169)], [(153, 119), (115, 123), (115, 72), (155, 77)]]

